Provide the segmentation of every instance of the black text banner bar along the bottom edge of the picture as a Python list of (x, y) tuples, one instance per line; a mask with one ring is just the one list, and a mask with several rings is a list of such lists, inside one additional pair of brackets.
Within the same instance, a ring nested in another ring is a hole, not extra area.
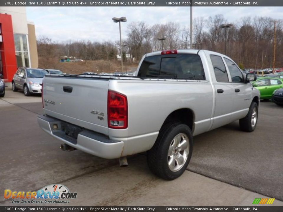
[(281, 212), (283, 206), (0, 206), (2, 211), (154, 211), (154, 212), (186, 212), (186, 211), (257, 211)]

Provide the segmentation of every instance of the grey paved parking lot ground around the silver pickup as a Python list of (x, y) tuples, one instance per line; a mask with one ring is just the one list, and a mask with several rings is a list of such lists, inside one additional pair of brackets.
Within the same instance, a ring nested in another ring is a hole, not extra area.
[[(37, 124), (40, 96), (6, 91), (0, 99), (0, 191), (37, 191), (60, 183), (77, 192), (69, 205), (252, 205), (276, 198), (283, 205), (282, 110), (261, 102), (252, 133), (233, 122), (194, 138), (187, 171), (176, 180), (154, 176), (144, 154), (106, 160), (80, 150), (60, 150), (60, 142)], [(0, 198), (1, 205), (11, 199)]]

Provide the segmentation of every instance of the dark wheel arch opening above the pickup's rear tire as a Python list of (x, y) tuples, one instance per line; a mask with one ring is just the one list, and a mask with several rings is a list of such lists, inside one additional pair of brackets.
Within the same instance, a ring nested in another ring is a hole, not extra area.
[(194, 130), (195, 114), (190, 108), (180, 108), (171, 112), (164, 120), (162, 126), (168, 122), (181, 122)]

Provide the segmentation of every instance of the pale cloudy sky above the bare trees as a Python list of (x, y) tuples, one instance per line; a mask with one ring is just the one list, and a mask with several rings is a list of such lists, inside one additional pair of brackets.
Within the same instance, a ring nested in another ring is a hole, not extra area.
[[(122, 38), (126, 38), (127, 25), (145, 21), (149, 26), (169, 21), (190, 27), (190, 7), (26, 7), (27, 20), (35, 24), (36, 35), (47, 36), (56, 42), (68, 40), (119, 40), (119, 23), (112, 17), (125, 16), (121, 23)], [(228, 22), (237, 22), (245, 16), (269, 16), (283, 19), (283, 7), (193, 7), (193, 18), (223, 14)]]

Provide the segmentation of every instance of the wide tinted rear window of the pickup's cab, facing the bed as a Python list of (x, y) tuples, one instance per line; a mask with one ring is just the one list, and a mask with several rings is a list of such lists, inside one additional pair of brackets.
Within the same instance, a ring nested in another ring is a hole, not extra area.
[(203, 64), (198, 54), (171, 54), (145, 57), (139, 77), (205, 80)]

